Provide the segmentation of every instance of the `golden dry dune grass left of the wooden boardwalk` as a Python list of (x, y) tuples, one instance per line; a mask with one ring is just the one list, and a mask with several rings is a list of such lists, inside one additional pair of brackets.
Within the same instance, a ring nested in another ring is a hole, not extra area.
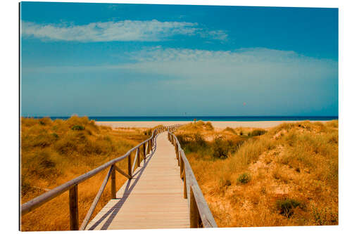
[[(49, 118), (22, 118), (21, 203), (124, 155), (127, 150), (149, 137), (148, 130), (111, 129), (97, 126), (87, 117), (77, 116), (55, 121)], [(117, 165), (127, 171), (127, 160), (122, 160)], [(107, 171), (108, 169), (100, 172), (78, 186), (80, 223)], [(117, 188), (125, 181), (124, 176), (116, 174)], [(92, 217), (111, 199), (110, 196), (111, 186), (108, 183)], [(25, 214), (21, 219), (21, 230), (25, 231), (69, 230), (69, 225), (68, 192)]]

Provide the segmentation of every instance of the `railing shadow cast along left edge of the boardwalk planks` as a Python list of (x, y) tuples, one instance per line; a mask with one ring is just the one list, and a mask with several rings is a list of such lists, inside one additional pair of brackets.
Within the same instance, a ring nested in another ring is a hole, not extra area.
[[(111, 225), (111, 222), (113, 221), (115, 216), (120, 211), (122, 205), (126, 202), (127, 197), (129, 197), (134, 186), (136, 186), (137, 182), (139, 181), (139, 178), (142, 176), (144, 169), (146, 169), (146, 166), (149, 164), (149, 161), (151, 160), (151, 157), (153, 157), (155, 151), (156, 151), (156, 143), (153, 146), (153, 150), (152, 150), (151, 154), (146, 157), (146, 161), (145, 161), (143, 167), (139, 167), (139, 169), (137, 171), (135, 171), (135, 173), (133, 174), (133, 176), (132, 176), (133, 178), (131, 178), (127, 181), (127, 184), (126, 184), (126, 187), (125, 187), (125, 190), (123, 192), (122, 197), (116, 198), (116, 199), (119, 199), (120, 201), (118, 201), (118, 203), (116, 203), (113, 207), (111, 207), (111, 209), (109, 209), (108, 212), (106, 212), (106, 214), (101, 216), (101, 218), (98, 221), (96, 221), (88, 230), (94, 230), (96, 228), (96, 226), (99, 226), (99, 224), (101, 222), (103, 222), (107, 216), (110, 215), (100, 230), (108, 229), (108, 227)], [(135, 177), (135, 176), (137, 176), (137, 177)], [(132, 180), (133, 180), (133, 182), (132, 182)]]

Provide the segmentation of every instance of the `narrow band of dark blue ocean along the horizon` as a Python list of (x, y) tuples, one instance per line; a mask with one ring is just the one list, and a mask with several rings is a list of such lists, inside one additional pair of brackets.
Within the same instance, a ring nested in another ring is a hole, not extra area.
[[(42, 118), (42, 117), (34, 117)], [(51, 116), (51, 119), (68, 119), (70, 117)], [(332, 120), (339, 119), (338, 116), (131, 116), (131, 117), (110, 117), (110, 116), (89, 116), (95, 121), (287, 121), (287, 120)]]

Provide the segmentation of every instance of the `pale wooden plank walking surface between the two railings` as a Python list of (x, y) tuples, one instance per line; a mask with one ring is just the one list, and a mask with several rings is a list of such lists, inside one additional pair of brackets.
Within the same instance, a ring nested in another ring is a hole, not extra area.
[(189, 207), (168, 133), (156, 138), (133, 178), (118, 190), (85, 230), (189, 228)]

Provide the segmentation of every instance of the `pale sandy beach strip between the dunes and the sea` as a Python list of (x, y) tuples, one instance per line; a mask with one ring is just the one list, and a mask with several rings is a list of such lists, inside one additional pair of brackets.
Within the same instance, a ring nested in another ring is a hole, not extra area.
[[(301, 121), (248, 121), (248, 122), (242, 122), (242, 121), (210, 121), (211, 124), (215, 128), (218, 129), (225, 129), (227, 126), (230, 126), (232, 128), (237, 128), (237, 127), (253, 127), (253, 128), (270, 128), (273, 126), (277, 126), (282, 123), (295, 123), (295, 122), (301, 122)], [(311, 122), (318, 122), (318, 121), (311, 121)], [(320, 122), (327, 122), (327, 121), (320, 121)], [(164, 126), (170, 126), (173, 124), (188, 124), (190, 123), (189, 121), (120, 121), (120, 122), (108, 122), (108, 121), (101, 121), (101, 122), (96, 122), (98, 125), (105, 125), (105, 126), (111, 126), (112, 128), (118, 128), (118, 127), (139, 127), (139, 128), (151, 128), (153, 126), (157, 125), (164, 125)]]

